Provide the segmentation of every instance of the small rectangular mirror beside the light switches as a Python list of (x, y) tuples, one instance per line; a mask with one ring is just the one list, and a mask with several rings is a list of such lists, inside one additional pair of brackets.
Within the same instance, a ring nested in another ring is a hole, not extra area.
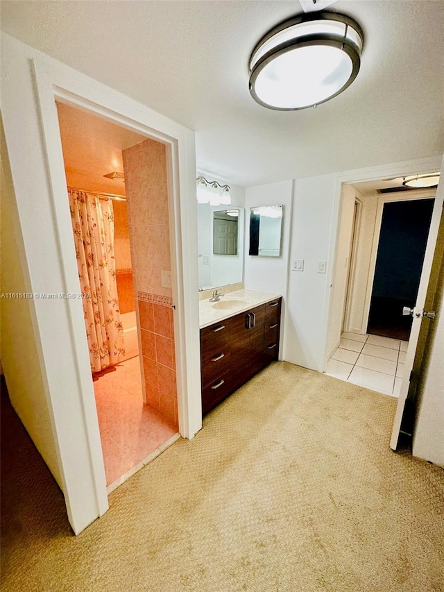
[(279, 257), (282, 205), (262, 205), (250, 210), (250, 255)]

